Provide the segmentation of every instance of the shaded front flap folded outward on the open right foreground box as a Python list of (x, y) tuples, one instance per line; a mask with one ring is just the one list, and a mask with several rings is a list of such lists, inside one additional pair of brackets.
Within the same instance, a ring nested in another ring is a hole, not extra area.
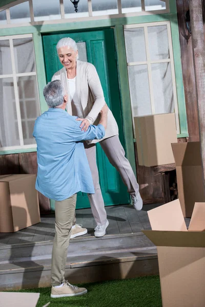
[(205, 247), (205, 232), (142, 230), (156, 246)]

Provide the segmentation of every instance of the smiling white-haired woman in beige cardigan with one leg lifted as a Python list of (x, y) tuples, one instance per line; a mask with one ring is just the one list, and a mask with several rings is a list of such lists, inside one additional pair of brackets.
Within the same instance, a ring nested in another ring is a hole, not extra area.
[[(97, 125), (99, 113), (105, 105), (105, 98), (101, 83), (95, 67), (88, 62), (78, 60), (76, 42), (69, 37), (62, 38), (57, 43), (57, 53), (63, 68), (56, 72), (53, 80), (61, 80), (68, 93), (67, 112), (77, 116), (82, 121), (81, 129), (87, 131), (90, 124)], [(99, 140), (87, 141), (84, 144), (89, 166), (92, 173), (95, 194), (88, 194), (92, 213), (97, 224), (95, 236), (105, 235), (109, 225), (104, 200), (99, 185), (98, 169), (96, 164), (95, 143)], [(105, 137), (99, 144), (103, 148), (110, 163), (118, 170), (121, 179), (132, 196), (133, 206), (136, 210), (142, 209), (142, 199), (139, 194), (139, 185), (134, 176), (129, 161), (125, 157), (125, 151), (118, 137), (118, 127), (112, 112), (108, 112), (108, 124)], [(71, 237), (86, 233), (74, 223)]]

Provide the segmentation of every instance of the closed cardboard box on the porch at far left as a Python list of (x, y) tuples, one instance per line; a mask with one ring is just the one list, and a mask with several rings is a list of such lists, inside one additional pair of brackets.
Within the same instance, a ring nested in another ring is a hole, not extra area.
[(40, 222), (35, 175), (0, 176), (0, 232), (15, 232)]

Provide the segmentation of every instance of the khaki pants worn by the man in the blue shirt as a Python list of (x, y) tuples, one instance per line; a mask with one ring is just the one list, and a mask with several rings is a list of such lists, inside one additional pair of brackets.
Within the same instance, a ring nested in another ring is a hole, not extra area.
[(65, 281), (65, 267), (71, 229), (75, 215), (77, 194), (64, 201), (55, 202), (55, 237), (53, 241), (51, 285)]

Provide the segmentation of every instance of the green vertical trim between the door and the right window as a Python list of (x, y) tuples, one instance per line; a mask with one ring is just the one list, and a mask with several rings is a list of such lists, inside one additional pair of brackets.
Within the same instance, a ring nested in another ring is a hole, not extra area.
[(114, 36), (115, 36), (115, 48), (117, 55), (117, 67), (118, 67), (122, 120), (123, 120), (124, 138), (125, 138), (125, 149), (127, 152), (127, 158), (130, 161), (130, 164), (136, 175), (135, 152), (133, 144), (133, 127), (130, 124), (132, 123), (132, 111), (131, 111), (131, 102), (130, 102), (130, 91), (129, 91), (129, 81), (127, 73), (127, 60), (126, 60), (123, 26), (115, 27)]

